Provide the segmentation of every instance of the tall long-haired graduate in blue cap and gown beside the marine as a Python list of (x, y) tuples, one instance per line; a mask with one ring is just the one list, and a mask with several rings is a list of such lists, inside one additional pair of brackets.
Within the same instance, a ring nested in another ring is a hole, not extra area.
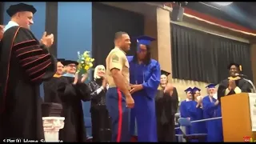
[(151, 59), (150, 42), (154, 38), (137, 38), (137, 52), (128, 56), (130, 64), (130, 94), (134, 98), (134, 108), (130, 110), (130, 134), (137, 125), (138, 142), (157, 142), (157, 127), (154, 96), (160, 83), (160, 65)]

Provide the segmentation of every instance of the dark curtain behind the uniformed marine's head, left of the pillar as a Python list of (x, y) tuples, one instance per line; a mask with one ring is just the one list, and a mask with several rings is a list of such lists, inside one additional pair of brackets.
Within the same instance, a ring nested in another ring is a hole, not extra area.
[[(114, 48), (114, 34), (125, 31), (130, 38), (143, 35), (144, 16), (97, 2), (93, 2), (92, 9), (94, 66), (106, 66), (106, 56)], [(131, 42), (132, 46), (127, 55), (135, 52), (135, 40)]]

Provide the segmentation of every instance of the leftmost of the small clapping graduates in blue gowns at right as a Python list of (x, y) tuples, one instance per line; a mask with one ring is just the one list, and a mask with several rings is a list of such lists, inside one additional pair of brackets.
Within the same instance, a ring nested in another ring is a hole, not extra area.
[[(180, 111), (180, 117), (181, 118), (190, 118), (190, 113), (189, 113), (189, 109), (190, 109), (190, 105), (194, 104), (194, 102), (191, 102), (193, 100), (192, 97), (192, 88), (189, 87), (185, 90), (186, 92), (186, 100), (181, 102), (181, 106), (179, 107), (179, 111)], [(190, 134), (190, 127), (186, 127), (186, 134)]]

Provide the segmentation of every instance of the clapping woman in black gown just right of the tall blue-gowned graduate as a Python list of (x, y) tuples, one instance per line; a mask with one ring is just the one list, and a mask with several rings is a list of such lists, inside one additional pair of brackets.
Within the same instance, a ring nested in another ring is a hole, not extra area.
[[(158, 127), (158, 142), (175, 142), (175, 114), (178, 110), (178, 92), (173, 86), (167, 87), (167, 76), (170, 74), (161, 70), (160, 86), (155, 98)], [(169, 91), (170, 90), (170, 91)]]

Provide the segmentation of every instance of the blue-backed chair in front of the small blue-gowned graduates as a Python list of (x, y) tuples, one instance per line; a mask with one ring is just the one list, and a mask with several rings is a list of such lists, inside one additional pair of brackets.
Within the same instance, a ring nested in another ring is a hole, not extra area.
[[(178, 123), (180, 126), (190, 127), (191, 122), (189, 118), (178, 118)], [(186, 134), (182, 129), (182, 137), (186, 139), (186, 142), (190, 142), (191, 140), (198, 140), (198, 142), (205, 142), (207, 134)], [(180, 137), (181, 134), (176, 134), (176, 136)]]

